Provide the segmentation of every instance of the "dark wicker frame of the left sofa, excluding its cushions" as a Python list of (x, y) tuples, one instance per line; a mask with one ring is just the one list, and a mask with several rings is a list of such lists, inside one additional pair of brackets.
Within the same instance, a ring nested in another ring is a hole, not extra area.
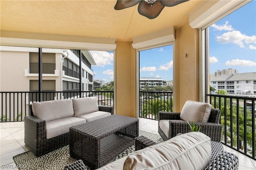
[[(98, 107), (100, 111), (114, 113), (112, 106)], [(30, 115), (24, 117), (24, 143), (37, 157), (69, 145), (69, 136), (69, 133), (64, 133), (46, 139), (46, 121), (34, 116), (30, 105)]]

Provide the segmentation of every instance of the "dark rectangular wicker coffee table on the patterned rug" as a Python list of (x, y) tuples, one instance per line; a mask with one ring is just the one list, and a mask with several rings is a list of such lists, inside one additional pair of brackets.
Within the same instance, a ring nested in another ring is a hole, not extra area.
[(139, 120), (122, 115), (70, 127), (70, 156), (82, 159), (90, 169), (108, 164), (118, 154), (134, 145), (139, 135)]

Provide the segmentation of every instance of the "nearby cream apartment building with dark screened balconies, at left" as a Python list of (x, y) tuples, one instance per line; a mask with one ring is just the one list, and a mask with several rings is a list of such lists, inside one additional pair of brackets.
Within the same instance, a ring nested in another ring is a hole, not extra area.
[[(1, 46), (0, 56), (2, 92), (38, 91), (38, 48)], [(92, 91), (91, 65), (96, 63), (89, 51), (47, 48), (42, 49), (42, 90), (79, 91), (80, 56), (82, 91)], [(6, 74), (3, 74), (4, 72)], [(62, 96), (67, 97), (70, 96)]]

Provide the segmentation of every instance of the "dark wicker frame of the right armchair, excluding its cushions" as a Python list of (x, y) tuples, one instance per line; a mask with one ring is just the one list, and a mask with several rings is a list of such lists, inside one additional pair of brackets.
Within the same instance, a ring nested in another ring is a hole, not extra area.
[[(200, 124), (200, 132), (204, 133), (211, 138), (212, 141), (221, 142), (222, 141), (222, 130), (223, 126), (220, 125), (220, 109), (211, 108), (210, 117), (208, 122), (194, 122), (195, 125)], [(169, 121), (169, 137), (167, 137), (162, 129), (159, 127), (161, 120)], [(191, 123), (191, 122), (189, 122)], [(178, 133), (188, 133), (190, 132), (190, 127), (187, 121), (180, 120), (180, 113), (178, 112), (158, 112), (158, 133), (164, 141), (175, 137)]]

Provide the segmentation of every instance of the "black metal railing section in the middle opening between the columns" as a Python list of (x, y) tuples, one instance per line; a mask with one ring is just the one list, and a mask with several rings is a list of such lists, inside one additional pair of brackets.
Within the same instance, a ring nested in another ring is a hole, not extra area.
[(139, 117), (158, 120), (158, 111), (173, 110), (173, 92), (139, 92)]

